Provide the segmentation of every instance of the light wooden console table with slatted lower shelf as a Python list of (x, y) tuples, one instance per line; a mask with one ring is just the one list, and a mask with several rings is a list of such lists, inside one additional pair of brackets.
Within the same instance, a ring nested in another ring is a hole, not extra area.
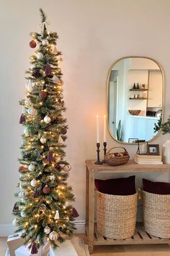
[(170, 239), (161, 239), (151, 236), (144, 231), (139, 223), (136, 225), (135, 234), (130, 239), (108, 239), (97, 231), (97, 225), (94, 223), (94, 178), (95, 174), (110, 173), (145, 173), (145, 172), (170, 172), (170, 165), (141, 165), (134, 161), (129, 161), (122, 166), (108, 166), (103, 164), (98, 166), (95, 161), (86, 161), (86, 234), (89, 242), (89, 252), (93, 253), (95, 245), (107, 244), (170, 244)]

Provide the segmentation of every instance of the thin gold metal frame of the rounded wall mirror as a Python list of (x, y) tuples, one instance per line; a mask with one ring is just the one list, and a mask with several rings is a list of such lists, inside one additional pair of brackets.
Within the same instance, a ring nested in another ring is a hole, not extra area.
[[(161, 70), (161, 74), (162, 74), (162, 120), (161, 120), (161, 124), (163, 124), (163, 121), (164, 121), (164, 71), (161, 67), (160, 64), (158, 64), (158, 61), (156, 61), (155, 59), (152, 59), (150, 57), (146, 57), (146, 56), (125, 56), (125, 57), (122, 57), (120, 59), (117, 59), (117, 61), (114, 62), (114, 64), (112, 64), (112, 66), (110, 67), (109, 69), (109, 73), (107, 75), (107, 129), (109, 130), (109, 135), (117, 142), (121, 143), (121, 144), (126, 144), (126, 145), (136, 145), (138, 143), (135, 143), (135, 142), (122, 142), (120, 140), (117, 140), (111, 133), (110, 129), (109, 129), (109, 120), (108, 120), (108, 104), (109, 104), (109, 101), (108, 101), (108, 94), (109, 94), (109, 77), (110, 77), (110, 73), (112, 72), (112, 68), (115, 66), (115, 64), (117, 64), (117, 62), (121, 61), (122, 59), (128, 59), (128, 58), (143, 58), (143, 59), (150, 59), (151, 61), (154, 61), (158, 67), (160, 68)], [(151, 139), (151, 140), (148, 140), (148, 143), (152, 142), (153, 140), (155, 140), (161, 133), (161, 129), (158, 131), (158, 133)]]

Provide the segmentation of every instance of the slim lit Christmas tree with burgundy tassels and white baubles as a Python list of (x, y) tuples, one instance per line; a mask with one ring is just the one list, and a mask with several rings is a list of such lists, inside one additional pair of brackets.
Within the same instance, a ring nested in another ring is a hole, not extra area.
[(63, 80), (61, 52), (56, 48), (57, 33), (48, 31), (45, 12), (41, 32), (31, 33), (25, 98), (20, 101), (24, 126), (22, 156), (19, 158), (19, 198), (14, 205), (14, 226), (24, 238), (31, 253), (50, 242), (58, 242), (73, 235), (73, 218), (78, 215), (72, 207), (71, 186), (66, 180), (71, 166), (64, 160), (68, 126), (63, 117)]

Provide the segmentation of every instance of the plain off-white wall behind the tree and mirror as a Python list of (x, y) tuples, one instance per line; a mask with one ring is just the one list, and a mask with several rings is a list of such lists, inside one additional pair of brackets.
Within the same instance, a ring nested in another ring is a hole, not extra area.
[[(68, 111), (67, 159), (79, 220), (85, 218), (85, 160), (96, 156), (95, 115), (106, 111), (107, 74), (122, 56), (150, 56), (166, 74), (166, 118), (170, 112), (169, 0), (0, 0), (1, 24), (1, 185), (0, 223), (12, 220), (13, 193), (18, 181), (18, 124), (24, 95), (24, 70), (32, 49), (29, 33), (40, 24), (39, 7), (47, 12), (51, 30), (60, 35), (63, 80)], [(169, 136), (154, 142), (162, 144)], [(108, 148), (117, 143), (107, 133)], [(136, 147), (126, 147), (131, 156)], [(149, 174), (148, 174), (149, 175)], [(165, 179), (166, 175), (158, 176)]]

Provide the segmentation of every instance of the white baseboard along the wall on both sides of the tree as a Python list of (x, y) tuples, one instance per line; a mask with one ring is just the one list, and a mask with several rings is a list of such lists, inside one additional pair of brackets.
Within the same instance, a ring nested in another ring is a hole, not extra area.
[[(85, 221), (74, 221), (76, 230), (75, 234), (85, 234)], [(0, 237), (1, 236), (9, 236), (13, 234), (15, 231), (15, 227), (12, 226), (12, 223), (4, 223), (0, 224)]]

